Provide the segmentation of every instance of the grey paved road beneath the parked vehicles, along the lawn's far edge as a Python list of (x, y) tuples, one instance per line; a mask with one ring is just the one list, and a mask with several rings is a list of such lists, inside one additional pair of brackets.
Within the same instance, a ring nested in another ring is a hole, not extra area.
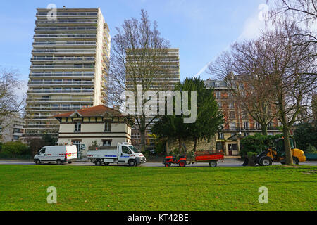
[[(34, 162), (30, 161), (13, 161), (13, 160), (0, 160), (0, 165), (35, 165)], [(47, 164), (46, 164), (47, 165)], [(64, 164), (63, 166), (93, 166), (94, 164), (90, 162), (73, 162), (72, 164)], [(218, 167), (240, 167), (242, 165), (242, 161), (228, 158), (218, 161)], [(280, 162), (273, 162), (273, 165), (280, 165)], [(300, 162), (299, 165), (309, 165), (309, 166), (317, 166), (317, 161), (307, 161)], [(127, 165), (109, 165), (109, 166), (127, 166)], [(142, 164), (142, 167), (163, 167), (164, 165), (161, 162), (147, 162)], [(176, 165), (174, 165), (176, 166)], [(193, 165), (187, 165), (187, 167), (209, 167), (209, 163), (195, 163)]]

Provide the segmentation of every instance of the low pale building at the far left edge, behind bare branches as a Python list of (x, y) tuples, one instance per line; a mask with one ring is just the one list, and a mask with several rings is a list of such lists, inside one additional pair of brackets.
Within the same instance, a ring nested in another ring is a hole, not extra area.
[(13, 113), (1, 118), (1, 142), (6, 143), (8, 141), (21, 141), (21, 137), (24, 133), (24, 124), (23, 117), (21, 117), (20, 113)]

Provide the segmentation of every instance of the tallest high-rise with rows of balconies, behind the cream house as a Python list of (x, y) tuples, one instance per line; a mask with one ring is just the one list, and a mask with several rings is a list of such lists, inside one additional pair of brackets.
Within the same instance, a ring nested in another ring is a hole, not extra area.
[(54, 115), (105, 103), (110, 34), (100, 8), (38, 8), (25, 139), (58, 133)]

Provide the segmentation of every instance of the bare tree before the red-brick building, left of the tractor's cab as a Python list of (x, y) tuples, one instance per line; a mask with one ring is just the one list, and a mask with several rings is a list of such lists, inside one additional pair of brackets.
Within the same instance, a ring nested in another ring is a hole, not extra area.
[(277, 110), (272, 104), (275, 93), (261, 70), (268, 57), (262, 41), (233, 44), (230, 53), (223, 53), (209, 65), (209, 73), (225, 81), (238, 108), (251, 115), (261, 125), (262, 134), (267, 135)]

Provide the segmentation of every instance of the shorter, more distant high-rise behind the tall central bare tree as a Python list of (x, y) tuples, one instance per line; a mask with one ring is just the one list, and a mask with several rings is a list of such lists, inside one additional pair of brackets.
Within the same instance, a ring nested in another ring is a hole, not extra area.
[[(133, 55), (128, 55), (129, 60), (137, 60), (137, 57)], [(175, 84), (180, 82), (180, 53), (179, 49), (166, 49), (161, 53), (161, 59), (159, 61), (159, 72), (156, 73), (153, 79), (153, 85), (151, 86), (151, 90), (154, 91), (166, 91), (175, 88)], [(129, 79), (127, 79), (129, 82)], [(147, 118), (147, 122), (150, 122), (152, 117)], [(151, 125), (154, 124), (157, 120), (151, 122), (149, 127), (146, 130), (146, 147), (147, 149), (154, 149), (155, 144), (154, 140), (151, 139)], [(137, 124), (137, 123), (136, 123)], [(141, 141), (141, 136), (137, 129), (132, 128), (131, 131), (132, 136), (132, 144), (138, 146)]]

